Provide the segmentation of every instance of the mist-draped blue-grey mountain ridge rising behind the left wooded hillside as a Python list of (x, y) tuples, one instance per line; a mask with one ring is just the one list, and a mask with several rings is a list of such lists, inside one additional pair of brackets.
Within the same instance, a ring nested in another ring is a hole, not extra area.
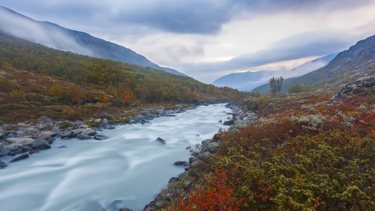
[(33, 43), (185, 76), (177, 70), (161, 67), (123, 46), (93, 37), (84, 32), (66, 29), (50, 22), (35, 21), (2, 6), (0, 6), (0, 19), (2, 20), (0, 22), (1, 31)]

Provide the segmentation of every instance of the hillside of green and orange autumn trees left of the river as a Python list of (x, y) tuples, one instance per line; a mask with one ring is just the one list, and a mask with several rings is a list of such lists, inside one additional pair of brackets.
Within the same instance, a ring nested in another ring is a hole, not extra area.
[(187, 76), (59, 51), (4, 33), (0, 40), (0, 119), (6, 122), (30, 120), (46, 111), (56, 119), (63, 118), (59, 112), (65, 110), (69, 118), (84, 118), (83, 114), (121, 110), (134, 103), (226, 101), (246, 96)]

